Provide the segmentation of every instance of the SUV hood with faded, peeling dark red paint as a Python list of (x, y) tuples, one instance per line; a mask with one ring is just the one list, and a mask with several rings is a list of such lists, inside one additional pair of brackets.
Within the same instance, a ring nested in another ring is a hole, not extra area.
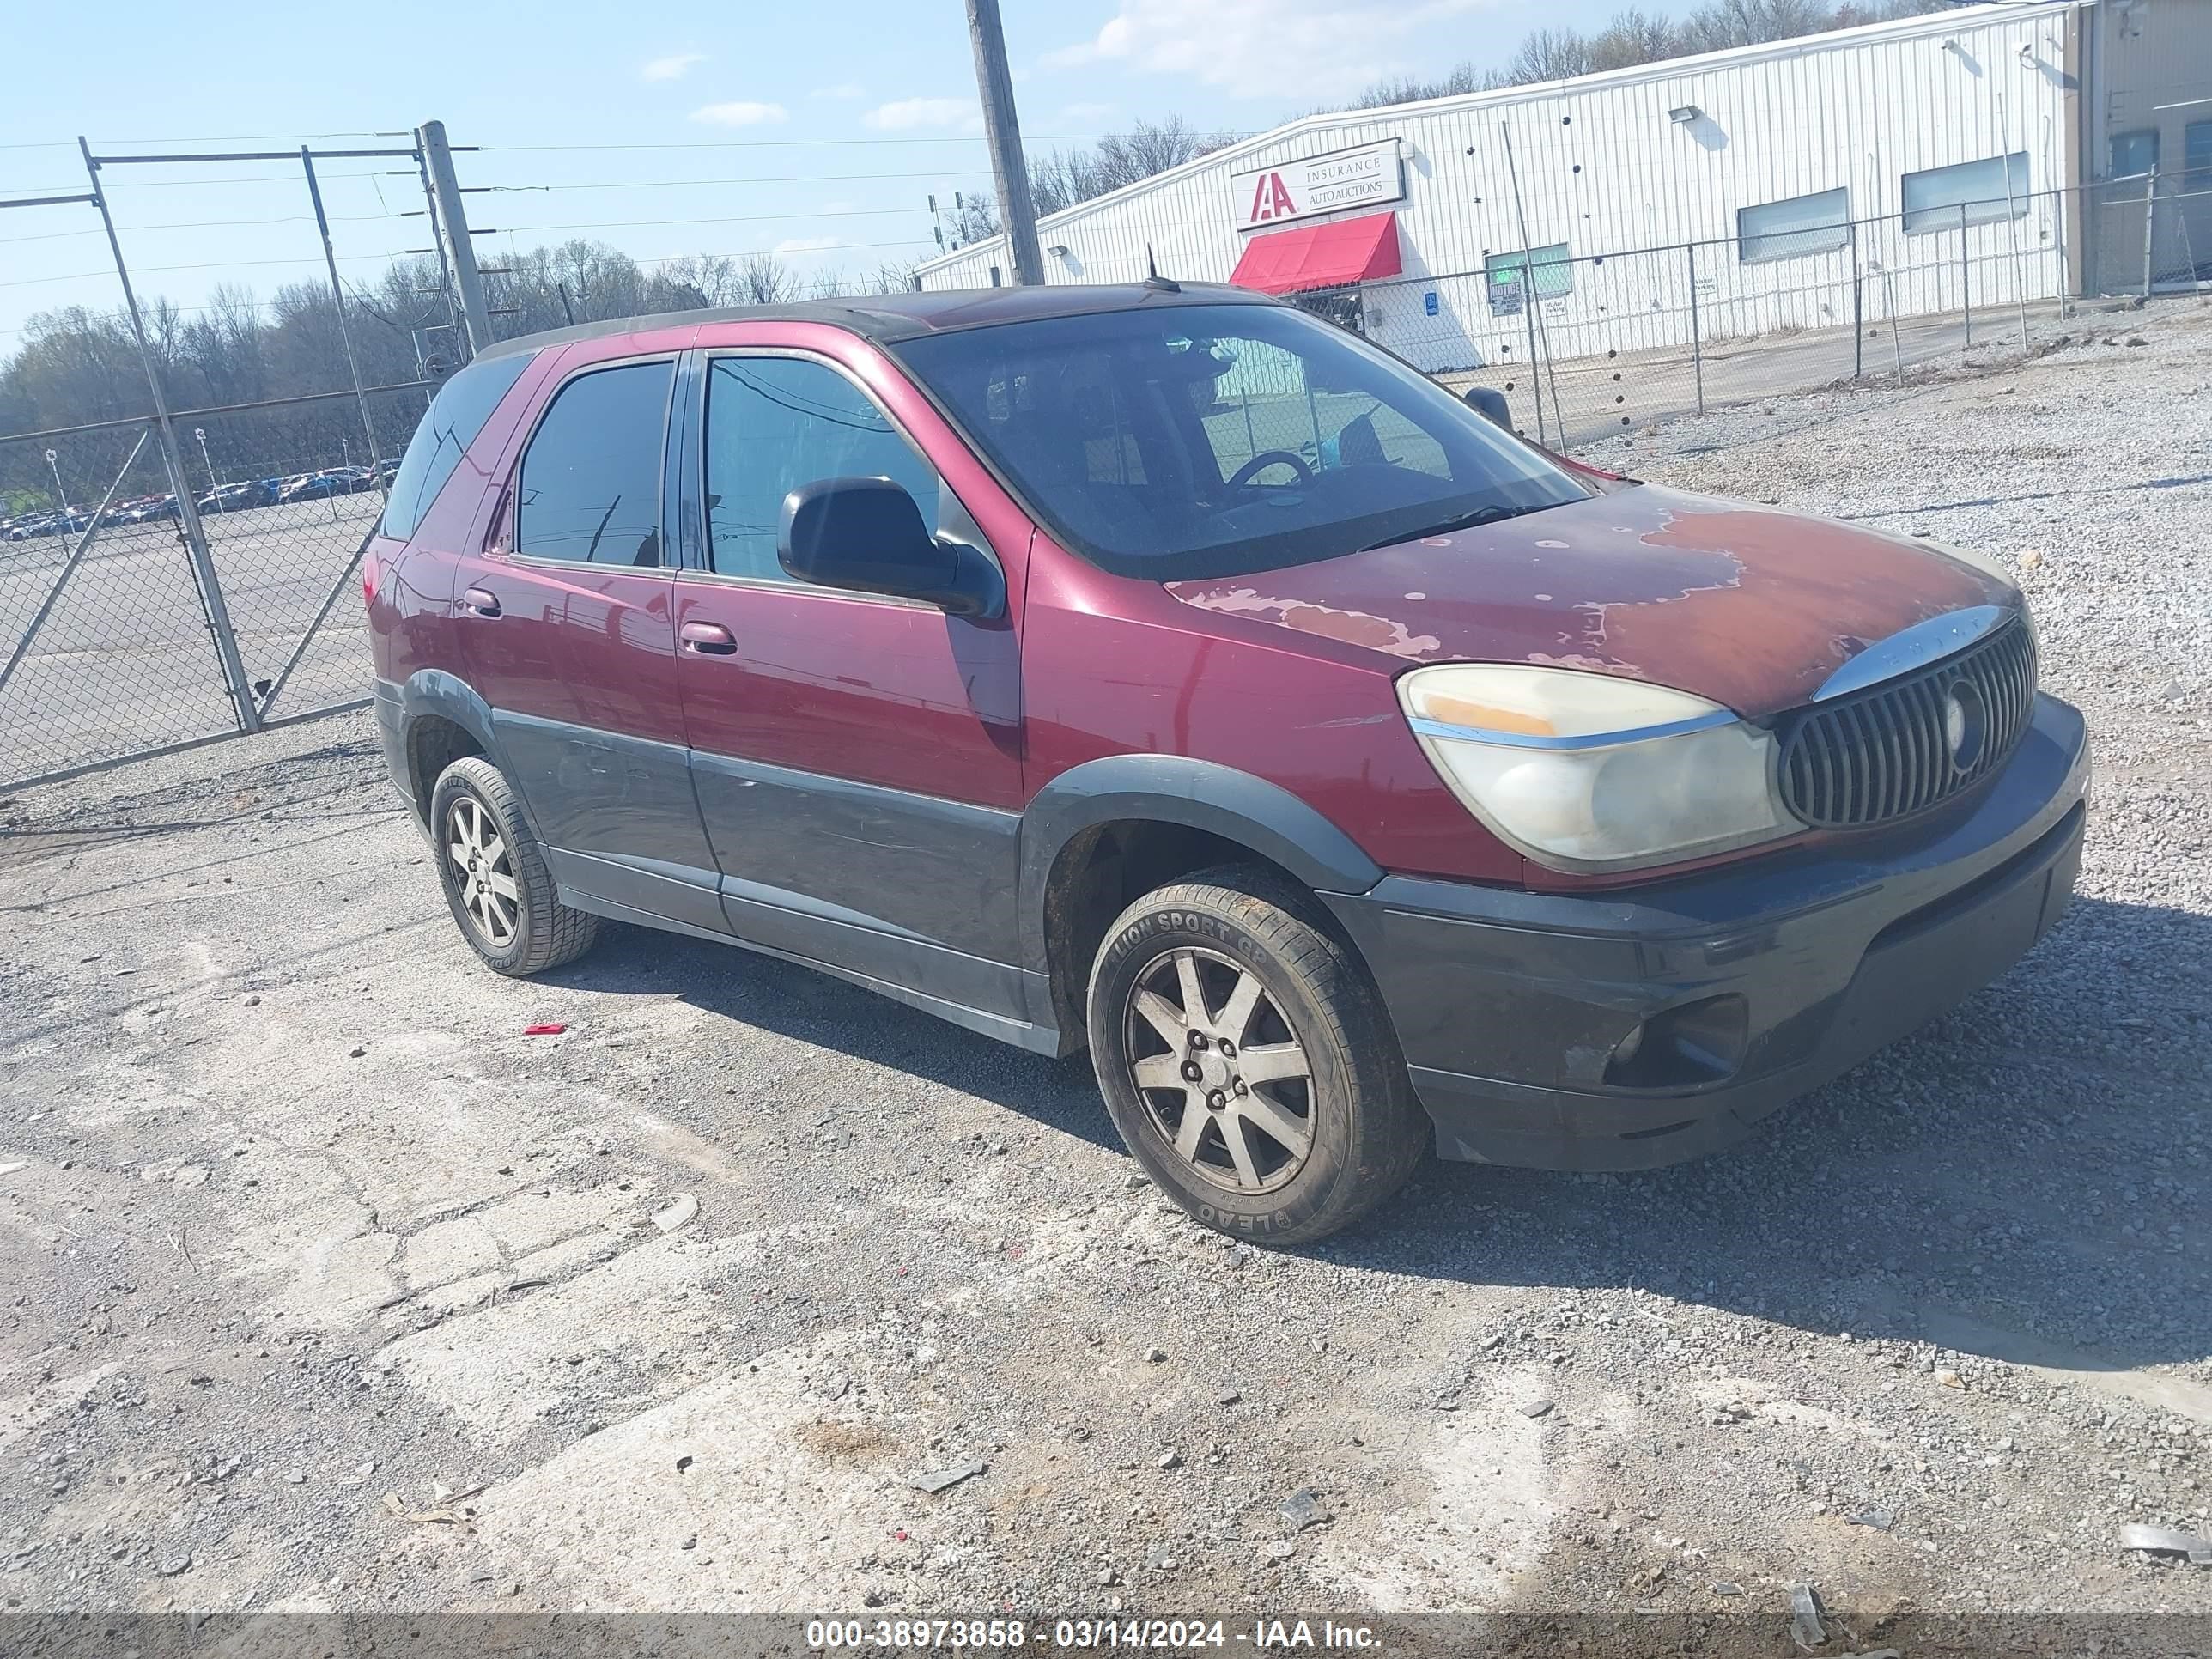
[(1807, 701), (1916, 622), (2020, 604), (2011, 582), (1927, 542), (1657, 484), (1166, 588), (1402, 661), (1586, 668), (1750, 717)]

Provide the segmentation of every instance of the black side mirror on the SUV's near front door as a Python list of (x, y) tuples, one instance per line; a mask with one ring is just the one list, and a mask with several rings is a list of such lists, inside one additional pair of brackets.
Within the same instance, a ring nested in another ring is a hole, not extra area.
[(958, 617), (995, 617), (1006, 584), (971, 546), (940, 542), (889, 478), (816, 478), (783, 498), (776, 562), (823, 588), (925, 599)]

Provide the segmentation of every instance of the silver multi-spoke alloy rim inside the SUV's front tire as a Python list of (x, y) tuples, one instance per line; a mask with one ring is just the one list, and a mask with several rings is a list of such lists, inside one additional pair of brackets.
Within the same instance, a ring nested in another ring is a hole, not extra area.
[(1146, 1124), (1199, 1179), (1259, 1197), (1305, 1168), (1312, 1064), (1252, 969), (1197, 947), (1161, 951), (1130, 984), (1124, 1042)]

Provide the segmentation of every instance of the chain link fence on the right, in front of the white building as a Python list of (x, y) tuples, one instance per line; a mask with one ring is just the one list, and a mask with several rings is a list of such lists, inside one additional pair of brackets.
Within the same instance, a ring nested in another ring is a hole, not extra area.
[(1453, 389), (1502, 392), (1524, 436), (1575, 451), (1964, 347), (2031, 349), (2031, 323), (2084, 294), (2208, 281), (2212, 175), (2141, 175), (1765, 237), (1515, 252), (1303, 303)]

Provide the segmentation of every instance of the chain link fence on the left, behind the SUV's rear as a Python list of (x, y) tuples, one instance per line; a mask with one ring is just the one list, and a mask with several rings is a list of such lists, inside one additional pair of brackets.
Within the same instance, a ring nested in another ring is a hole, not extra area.
[[(356, 571), (431, 383), (0, 438), (0, 781), (358, 703)], [(361, 409), (369, 422), (361, 422)]]

